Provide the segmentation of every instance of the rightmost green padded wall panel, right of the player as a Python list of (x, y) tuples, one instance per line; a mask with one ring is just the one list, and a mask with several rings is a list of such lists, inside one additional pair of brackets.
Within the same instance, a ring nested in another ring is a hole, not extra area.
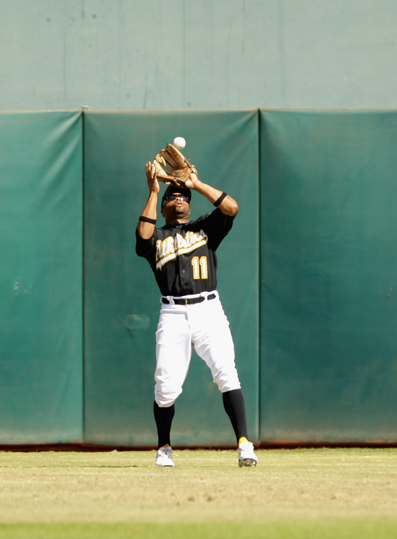
[(261, 110), (264, 443), (397, 441), (397, 112)]

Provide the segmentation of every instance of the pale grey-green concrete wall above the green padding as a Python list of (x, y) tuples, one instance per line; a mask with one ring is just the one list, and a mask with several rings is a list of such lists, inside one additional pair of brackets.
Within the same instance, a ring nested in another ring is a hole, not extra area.
[(394, 0), (1, 3), (0, 109), (397, 108)]

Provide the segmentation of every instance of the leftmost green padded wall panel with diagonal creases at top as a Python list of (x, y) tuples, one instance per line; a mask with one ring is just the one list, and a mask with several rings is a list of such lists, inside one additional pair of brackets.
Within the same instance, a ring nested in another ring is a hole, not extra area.
[(81, 127), (0, 114), (0, 444), (82, 440)]

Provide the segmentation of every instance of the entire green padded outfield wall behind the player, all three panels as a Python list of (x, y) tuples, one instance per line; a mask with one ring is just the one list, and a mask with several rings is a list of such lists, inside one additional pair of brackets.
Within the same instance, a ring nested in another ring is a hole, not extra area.
[[(397, 112), (248, 109), (0, 114), (0, 444), (155, 445), (135, 227), (175, 136), (239, 203), (218, 291), (252, 441), (397, 443)], [(194, 354), (173, 443), (234, 441)]]

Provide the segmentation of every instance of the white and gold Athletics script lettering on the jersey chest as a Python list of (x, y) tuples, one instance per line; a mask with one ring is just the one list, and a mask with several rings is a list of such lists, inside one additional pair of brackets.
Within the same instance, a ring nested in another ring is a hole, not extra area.
[(176, 234), (175, 238), (168, 236), (162, 241), (158, 239), (156, 241), (156, 269), (161, 269), (163, 265), (179, 257), (180, 254), (191, 253), (198, 247), (206, 245), (207, 242), (208, 236), (203, 230), (200, 232), (188, 230), (185, 237)]

